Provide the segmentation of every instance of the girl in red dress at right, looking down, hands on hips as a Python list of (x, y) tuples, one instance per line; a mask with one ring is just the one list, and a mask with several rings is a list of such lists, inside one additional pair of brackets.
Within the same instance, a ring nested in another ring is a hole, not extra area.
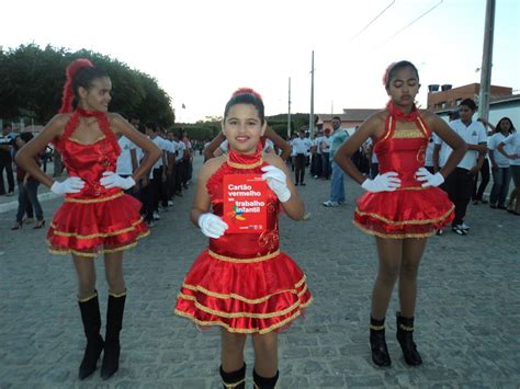
[[(427, 238), (453, 219), (454, 206), (437, 186), (456, 167), (466, 146), (444, 121), (415, 106), (420, 84), (412, 64), (391, 65), (384, 83), (391, 98), (386, 108), (362, 124), (339, 148), (335, 161), (369, 192), (358, 199), (354, 225), (375, 236), (380, 259), (372, 293), (372, 361), (377, 366), (391, 365), (384, 322), (392, 290), (399, 279), (397, 340), (406, 363), (418, 366), (422, 359), (412, 339), (417, 272)], [(436, 174), (425, 168), (432, 131), (453, 149), (444, 168)], [(364, 176), (350, 159), (369, 137), (380, 161), (380, 174), (374, 180)]]

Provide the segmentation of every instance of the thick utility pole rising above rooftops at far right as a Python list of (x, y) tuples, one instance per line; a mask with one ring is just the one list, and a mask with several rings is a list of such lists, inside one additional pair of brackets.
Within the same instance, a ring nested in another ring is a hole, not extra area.
[(495, 2), (486, 2), (486, 21), (484, 25), (484, 48), (482, 53), (481, 91), (478, 94), (478, 116), (489, 116), (489, 95), (491, 89), (493, 34), (495, 30)]

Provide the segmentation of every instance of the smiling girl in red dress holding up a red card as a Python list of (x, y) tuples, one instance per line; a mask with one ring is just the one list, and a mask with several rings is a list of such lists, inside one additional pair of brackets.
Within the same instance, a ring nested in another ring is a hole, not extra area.
[[(252, 90), (238, 90), (224, 112), (227, 156), (208, 160), (197, 178), (192, 222), (210, 238), (178, 297), (176, 313), (201, 327), (222, 328), (221, 376), (225, 388), (245, 388), (244, 347), (255, 347), (256, 388), (274, 388), (278, 331), (289, 327), (310, 304), (305, 274), (279, 248), (279, 214), (295, 220), (304, 205), (280, 157), (262, 153), (263, 102)], [(258, 233), (229, 233), (222, 219), (223, 180), (230, 174), (259, 174), (265, 180), (267, 228)], [(212, 210), (210, 209), (212, 208)]]

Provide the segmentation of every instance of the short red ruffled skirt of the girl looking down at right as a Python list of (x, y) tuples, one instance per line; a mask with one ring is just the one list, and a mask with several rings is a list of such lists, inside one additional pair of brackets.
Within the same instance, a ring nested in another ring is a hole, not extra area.
[(426, 238), (451, 222), (454, 209), (438, 187), (365, 193), (358, 199), (353, 222), (381, 238)]

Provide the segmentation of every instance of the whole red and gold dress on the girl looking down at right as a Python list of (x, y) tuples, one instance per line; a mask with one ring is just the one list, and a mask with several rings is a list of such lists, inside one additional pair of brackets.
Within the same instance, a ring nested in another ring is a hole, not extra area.
[[(439, 187), (422, 187), (416, 172), (425, 165), (431, 129), (417, 108), (410, 115), (388, 106), (385, 133), (374, 140), (380, 174), (397, 172), (402, 186), (394, 192), (365, 193), (358, 199), (354, 225), (382, 238), (425, 238), (454, 217), (454, 205)], [(415, 122), (415, 129), (399, 129), (399, 121)]]

